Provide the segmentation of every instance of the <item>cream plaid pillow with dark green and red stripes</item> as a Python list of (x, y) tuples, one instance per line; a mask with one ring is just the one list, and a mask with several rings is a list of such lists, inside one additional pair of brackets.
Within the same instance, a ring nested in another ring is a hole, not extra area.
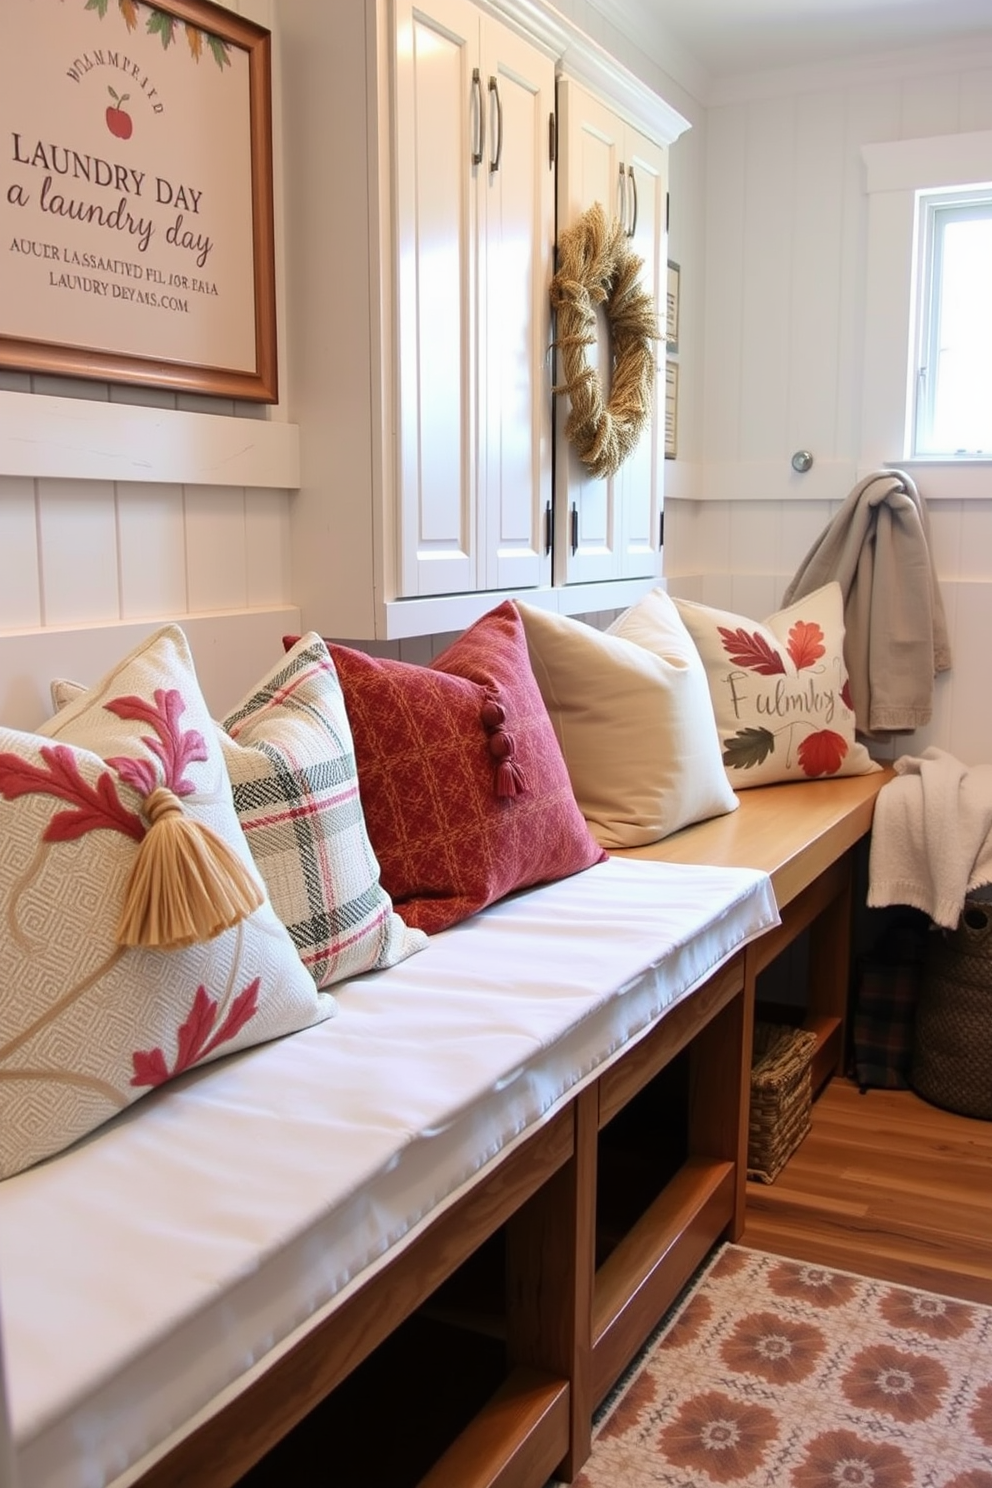
[(272, 908), (318, 987), (427, 945), (379, 884), (335, 664), (303, 635), (223, 720), (233, 801)]

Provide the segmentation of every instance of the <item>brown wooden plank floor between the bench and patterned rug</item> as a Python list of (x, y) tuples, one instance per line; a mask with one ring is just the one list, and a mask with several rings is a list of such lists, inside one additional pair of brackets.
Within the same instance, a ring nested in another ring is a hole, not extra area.
[(836, 1077), (741, 1244), (992, 1305), (992, 1122)]

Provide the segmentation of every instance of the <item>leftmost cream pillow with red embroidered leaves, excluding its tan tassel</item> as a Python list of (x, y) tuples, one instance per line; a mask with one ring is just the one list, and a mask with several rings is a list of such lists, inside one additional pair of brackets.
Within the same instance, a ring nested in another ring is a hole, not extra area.
[[(232, 850), (262, 899), (178, 949), (117, 943), (158, 786)], [(0, 728), (0, 1178), (192, 1065), (336, 1010), (265, 897), (174, 625), (37, 734)]]

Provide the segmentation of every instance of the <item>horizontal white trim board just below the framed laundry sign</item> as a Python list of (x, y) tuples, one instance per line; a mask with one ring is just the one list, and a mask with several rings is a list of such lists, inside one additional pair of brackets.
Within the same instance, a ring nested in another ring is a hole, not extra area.
[(0, 390), (0, 475), (296, 490), (299, 427)]

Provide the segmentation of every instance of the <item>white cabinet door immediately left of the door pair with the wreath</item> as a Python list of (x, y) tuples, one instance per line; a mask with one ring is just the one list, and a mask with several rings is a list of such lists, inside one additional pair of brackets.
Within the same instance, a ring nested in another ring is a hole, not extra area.
[(480, 583), (522, 589), (550, 582), (544, 513), (552, 496), (549, 281), (555, 170), (549, 131), (555, 64), (498, 21), (483, 21), (482, 43)]

